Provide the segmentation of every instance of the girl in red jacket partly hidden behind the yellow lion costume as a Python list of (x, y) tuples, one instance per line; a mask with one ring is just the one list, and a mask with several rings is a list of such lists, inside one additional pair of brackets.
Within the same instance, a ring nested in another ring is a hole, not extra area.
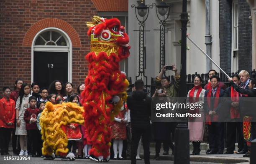
[[(72, 95), (70, 97), (70, 101), (74, 103), (79, 103), (77, 95)], [(76, 154), (77, 151), (77, 142), (78, 140), (82, 139), (82, 134), (80, 132), (80, 127), (78, 124), (68, 124), (66, 126), (66, 134), (67, 138), (69, 140), (67, 148), (69, 149), (69, 152)], [(72, 150), (72, 151), (71, 151)]]

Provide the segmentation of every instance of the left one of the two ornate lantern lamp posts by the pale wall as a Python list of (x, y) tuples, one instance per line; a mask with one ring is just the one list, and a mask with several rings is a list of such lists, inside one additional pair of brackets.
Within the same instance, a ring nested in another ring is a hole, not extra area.
[[(148, 77), (145, 76), (145, 69), (146, 69), (146, 47), (144, 42), (144, 32), (148, 30), (145, 29), (145, 21), (148, 18), (148, 12), (149, 12), (149, 5), (145, 5), (143, 0), (141, 0), (141, 3), (136, 7), (135, 5), (131, 5), (132, 8), (135, 7), (135, 15), (137, 20), (139, 21), (139, 30), (134, 30), (139, 32), (139, 71), (138, 76), (136, 76), (136, 80), (138, 77), (146, 78), (146, 85), (148, 84)], [(138, 10), (138, 11), (136, 11)], [(138, 18), (138, 15), (142, 17), (142, 20)]]

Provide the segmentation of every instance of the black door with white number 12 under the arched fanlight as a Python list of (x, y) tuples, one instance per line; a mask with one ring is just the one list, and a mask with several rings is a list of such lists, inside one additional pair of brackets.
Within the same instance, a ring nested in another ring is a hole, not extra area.
[(34, 52), (34, 79), (40, 87), (54, 80), (68, 81), (68, 52)]

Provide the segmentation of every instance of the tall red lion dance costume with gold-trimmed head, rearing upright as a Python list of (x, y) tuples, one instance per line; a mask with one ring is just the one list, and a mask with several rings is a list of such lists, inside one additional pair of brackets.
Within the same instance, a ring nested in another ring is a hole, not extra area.
[(129, 37), (116, 18), (107, 20), (93, 16), (87, 27), (91, 51), (86, 55), (89, 67), (82, 92), (84, 124), (93, 143), (90, 158), (108, 162), (110, 121), (127, 99), (125, 90), (129, 82), (121, 74), (119, 62), (129, 56)]

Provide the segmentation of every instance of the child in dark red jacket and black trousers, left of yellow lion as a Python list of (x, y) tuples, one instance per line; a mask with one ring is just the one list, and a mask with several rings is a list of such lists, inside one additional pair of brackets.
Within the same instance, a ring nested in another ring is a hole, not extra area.
[(26, 130), (28, 133), (28, 154), (32, 155), (32, 157), (36, 157), (36, 152), (39, 154), (41, 151), (38, 145), (38, 143), (41, 143), (40, 132), (36, 126), (36, 118), (40, 113), (40, 110), (36, 108), (36, 97), (29, 97), (28, 102), (30, 107), (26, 109), (23, 117), (26, 122)]

